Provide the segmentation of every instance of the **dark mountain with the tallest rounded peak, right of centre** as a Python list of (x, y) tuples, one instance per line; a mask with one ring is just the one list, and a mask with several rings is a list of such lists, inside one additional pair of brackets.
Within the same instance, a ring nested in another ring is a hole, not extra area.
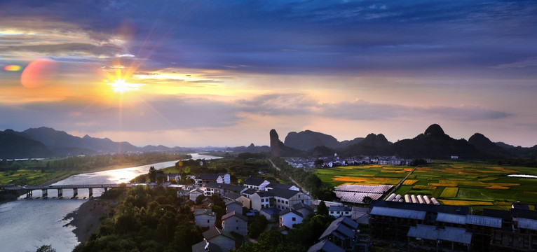
[(464, 139), (452, 139), (437, 124), (430, 125), (423, 134), (414, 139), (397, 141), (390, 149), (391, 153), (408, 158), (449, 158), (451, 155), (460, 158), (480, 157), (475, 146)]

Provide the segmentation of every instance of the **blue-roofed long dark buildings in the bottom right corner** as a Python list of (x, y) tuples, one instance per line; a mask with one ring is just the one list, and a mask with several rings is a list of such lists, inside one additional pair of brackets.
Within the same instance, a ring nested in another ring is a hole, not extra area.
[(537, 211), (512, 204), (510, 211), (376, 201), (369, 205), (371, 235), (406, 241), (409, 251), (536, 251)]

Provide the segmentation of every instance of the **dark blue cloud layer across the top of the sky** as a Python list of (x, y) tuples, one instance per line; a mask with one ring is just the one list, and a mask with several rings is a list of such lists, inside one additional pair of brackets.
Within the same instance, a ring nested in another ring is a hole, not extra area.
[[(3, 1), (6, 18), (128, 30), (143, 67), (261, 73), (454, 71), (537, 55), (535, 1)], [(125, 29), (128, 27), (128, 29)], [(531, 73), (525, 73), (531, 74)]]

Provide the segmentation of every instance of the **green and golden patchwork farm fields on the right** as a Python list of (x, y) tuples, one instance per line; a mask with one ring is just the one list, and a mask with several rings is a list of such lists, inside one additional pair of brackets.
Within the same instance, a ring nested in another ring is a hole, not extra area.
[[(317, 169), (315, 174), (330, 186), (397, 185), (412, 167), (358, 165)], [(507, 209), (509, 202), (537, 204), (537, 179), (508, 177), (537, 175), (536, 168), (489, 165), (482, 162), (433, 161), (418, 167), (394, 193), (428, 195), (442, 204)]]

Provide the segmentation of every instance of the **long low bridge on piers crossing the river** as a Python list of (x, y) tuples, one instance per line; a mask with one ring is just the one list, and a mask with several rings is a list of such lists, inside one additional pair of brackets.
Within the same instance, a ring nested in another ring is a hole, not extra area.
[(93, 197), (93, 188), (104, 188), (106, 192), (108, 188), (119, 188), (119, 187), (132, 187), (130, 183), (121, 183), (121, 184), (83, 184), (83, 185), (56, 185), (56, 186), (12, 186), (5, 187), (4, 190), (8, 191), (25, 191), (26, 197), (32, 197), (32, 191), (41, 190), (43, 192), (43, 198), (48, 197), (48, 190), (57, 190), (57, 197), (63, 197), (64, 189), (72, 189), (73, 197), (79, 194), (79, 189), (88, 189), (89, 197)]

